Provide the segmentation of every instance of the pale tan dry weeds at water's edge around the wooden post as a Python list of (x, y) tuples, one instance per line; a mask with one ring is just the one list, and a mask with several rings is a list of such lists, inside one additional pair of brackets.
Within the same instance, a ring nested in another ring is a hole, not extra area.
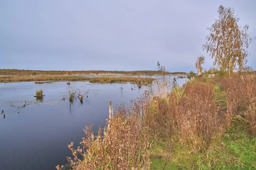
[[(142, 101), (134, 100), (130, 107), (120, 106), (115, 119), (109, 119), (104, 130), (100, 127), (96, 136), (92, 125), (86, 127), (81, 147), (73, 149), (73, 142), (68, 146), (74, 156), (68, 158), (70, 166), (76, 170), (149, 169), (152, 144), (147, 128), (141, 126), (141, 112), (137, 109), (143, 105)], [(56, 168), (62, 169), (59, 165)]]

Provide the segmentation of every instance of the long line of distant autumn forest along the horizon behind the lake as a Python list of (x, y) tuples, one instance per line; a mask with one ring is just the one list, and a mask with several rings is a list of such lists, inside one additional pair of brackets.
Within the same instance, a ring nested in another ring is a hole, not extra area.
[[(41, 71), (41, 70), (18, 70), (0, 69), (0, 75), (30, 76), (30, 75), (65, 75), (65, 76), (102, 76), (102, 75), (136, 75), (151, 76), (160, 75), (160, 71)], [(166, 75), (185, 75), (186, 72), (165, 72)]]

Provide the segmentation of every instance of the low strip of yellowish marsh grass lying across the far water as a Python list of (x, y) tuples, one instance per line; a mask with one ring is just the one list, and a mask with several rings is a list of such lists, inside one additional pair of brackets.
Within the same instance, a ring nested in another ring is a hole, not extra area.
[(38, 75), (38, 76), (0, 76), (0, 82), (26, 82), (26, 81), (90, 81), (90, 82), (134, 82), (149, 84), (153, 78), (143, 77), (81, 77), (64, 75)]

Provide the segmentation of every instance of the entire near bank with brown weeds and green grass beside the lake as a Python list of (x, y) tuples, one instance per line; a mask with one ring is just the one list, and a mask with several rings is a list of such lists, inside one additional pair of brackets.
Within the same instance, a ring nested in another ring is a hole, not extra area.
[[(97, 136), (90, 127), (69, 158), (87, 169), (255, 169), (256, 76), (198, 78), (177, 87), (162, 82)], [(163, 94), (163, 87), (172, 91)], [(85, 152), (86, 151), (86, 152)], [(80, 153), (83, 159), (79, 159)], [(57, 169), (61, 169), (57, 166)]]

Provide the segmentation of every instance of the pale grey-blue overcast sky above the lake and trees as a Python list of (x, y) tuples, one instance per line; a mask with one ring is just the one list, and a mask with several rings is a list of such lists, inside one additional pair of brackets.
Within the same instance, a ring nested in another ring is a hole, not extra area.
[[(0, 0), (0, 68), (194, 71), (218, 6), (256, 36), (256, 0)], [(256, 69), (256, 41), (248, 64)]]

